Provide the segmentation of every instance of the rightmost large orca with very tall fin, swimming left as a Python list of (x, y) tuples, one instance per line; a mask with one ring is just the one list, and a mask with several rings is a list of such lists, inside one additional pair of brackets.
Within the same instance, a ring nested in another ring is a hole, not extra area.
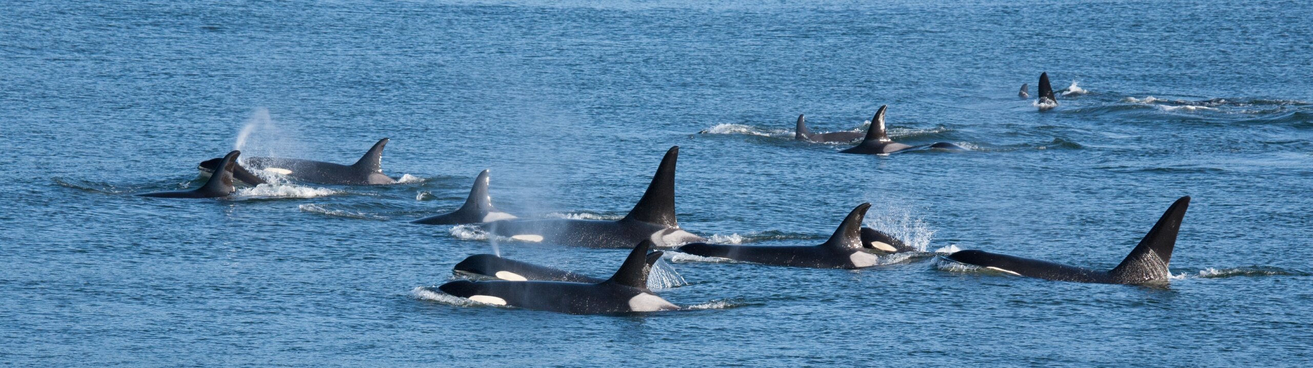
[(943, 259), (978, 265), (1004, 273), (1058, 281), (1098, 283), (1098, 284), (1163, 284), (1171, 276), (1167, 264), (1176, 246), (1176, 233), (1186, 217), (1190, 197), (1180, 197), (1158, 218), (1149, 234), (1130, 251), (1121, 264), (1112, 271), (1098, 271), (1066, 265), (1039, 259), (993, 254), (979, 250), (964, 250)]

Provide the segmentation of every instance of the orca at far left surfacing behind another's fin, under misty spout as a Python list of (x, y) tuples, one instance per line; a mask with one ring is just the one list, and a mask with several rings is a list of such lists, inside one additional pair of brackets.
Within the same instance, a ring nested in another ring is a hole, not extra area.
[[(306, 160), (306, 159), (286, 159), (286, 158), (247, 158), (239, 167), (249, 167), (255, 171), (264, 171), (269, 173), (277, 173), (286, 176), (291, 180), (315, 183), (315, 184), (341, 184), (341, 185), (358, 185), (358, 184), (394, 184), (395, 179), (383, 175), (382, 158), (383, 146), (387, 145), (387, 138), (379, 139), (374, 143), (364, 156), (360, 158), (355, 164), (336, 164), (327, 162)], [(201, 163), (201, 171), (213, 172), (217, 167), (218, 160), (211, 159)], [(256, 175), (252, 175), (247, 168), (235, 170), (242, 172), (238, 175), (238, 180), (242, 180), (251, 185), (264, 184), (265, 180)], [(248, 181), (249, 180), (249, 181)]]

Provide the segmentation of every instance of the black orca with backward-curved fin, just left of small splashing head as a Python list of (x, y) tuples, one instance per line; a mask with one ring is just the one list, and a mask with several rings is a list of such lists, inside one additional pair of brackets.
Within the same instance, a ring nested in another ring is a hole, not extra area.
[(811, 268), (863, 268), (876, 265), (880, 258), (867, 252), (861, 242), (861, 218), (867, 216), (871, 204), (861, 204), (848, 213), (848, 217), (834, 230), (830, 241), (819, 246), (739, 246), (688, 243), (678, 251), (717, 256), (733, 260), (773, 265), (793, 265)]

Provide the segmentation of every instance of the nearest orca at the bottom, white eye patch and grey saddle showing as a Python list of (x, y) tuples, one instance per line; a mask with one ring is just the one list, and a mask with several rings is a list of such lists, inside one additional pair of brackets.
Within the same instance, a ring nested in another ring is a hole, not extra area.
[[(629, 252), (620, 271), (601, 283), (566, 281), (470, 281), (456, 280), (439, 290), (478, 302), (519, 306), (524, 309), (570, 314), (622, 314), (679, 309), (647, 289), (651, 268), (647, 250), (651, 241), (642, 241)], [(660, 256), (660, 252), (655, 252)]]

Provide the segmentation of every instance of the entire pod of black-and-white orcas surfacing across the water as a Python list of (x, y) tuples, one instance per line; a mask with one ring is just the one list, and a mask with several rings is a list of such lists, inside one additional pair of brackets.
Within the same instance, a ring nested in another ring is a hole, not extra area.
[[(1018, 96), (1028, 99), (1028, 84), (1022, 84)], [(1041, 109), (1057, 105), (1048, 74), (1040, 74), (1036, 105)], [(937, 142), (911, 146), (889, 138), (885, 126), (888, 105), (880, 106), (871, 120), (867, 133), (831, 131), (811, 133), (804, 116), (798, 116), (794, 139), (818, 143), (853, 142), (844, 154), (885, 155), (916, 149), (962, 150)], [(223, 158), (205, 160), (198, 166), (209, 175), (205, 184), (190, 191), (139, 193), (143, 197), (164, 198), (218, 198), (235, 192), (235, 184), (260, 185), (269, 179), (288, 179), (315, 184), (368, 185), (391, 184), (395, 179), (382, 172), (382, 151), (389, 139), (374, 143), (353, 164), (336, 164), (307, 159), (256, 156), (239, 162), (240, 151)], [(647, 277), (663, 251), (729, 259), (765, 265), (807, 268), (868, 268), (880, 264), (881, 255), (924, 254), (886, 233), (863, 227), (871, 204), (853, 208), (830, 238), (814, 246), (756, 246), (717, 244), (688, 233), (679, 226), (675, 214), (675, 168), (679, 146), (666, 151), (647, 189), (621, 219), (572, 218), (520, 218), (499, 210), (488, 193), (488, 171), (474, 179), (469, 196), (461, 208), (442, 214), (411, 221), (419, 225), (479, 223), (491, 235), (521, 242), (541, 242), (591, 248), (628, 248), (629, 255), (609, 279), (512, 260), (491, 254), (477, 254), (456, 264), (452, 272), (460, 276), (437, 288), (423, 288), (470, 301), (517, 306), (524, 309), (561, 311), (571, 314), (625, 314), (641, 311), (678, 310), (678, 305), (656, 296), (647, 287)], [(1190, 197), (1180, 197), (1158, 218), (1153, 229), (1130, 254), (1115, 268), (1098, 271), (1048, 260), (994, 254), (981, 250), (960, 250), (934, 255), (939, 260), (997, 271), (1004, 275), (1046, 280), (1153, 285), (1167, 283), (1169, 264), (1176, 243), (1180, 223), (1190, 206)], [(637, 246), (634, 246), (637, 244)]]

